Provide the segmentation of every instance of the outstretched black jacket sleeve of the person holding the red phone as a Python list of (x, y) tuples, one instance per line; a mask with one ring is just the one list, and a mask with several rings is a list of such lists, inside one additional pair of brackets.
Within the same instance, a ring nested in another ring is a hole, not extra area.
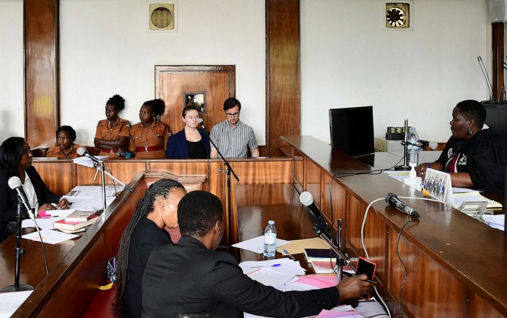
[[(231, 258), (233, 258), (231, 256)], [(232, 262), (217, 261), (204, 279), (216, 299), (240, 311), (269, 317), (305, 317), (338, 304), (336, 287), (308, 291), (280, 291), (251, 280)]]

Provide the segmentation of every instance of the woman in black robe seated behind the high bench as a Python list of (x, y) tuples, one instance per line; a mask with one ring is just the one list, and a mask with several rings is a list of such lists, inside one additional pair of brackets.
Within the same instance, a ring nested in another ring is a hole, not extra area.
[(477, 101), (459, 102), (452, 110), (452, 136), (438, 160), (422, 163), (416, 172), (424, 178), (428, 166), (451, 175), (455, 187), (485, 189), (503, 195), (507, 139), (484, 127), (486, 109)]

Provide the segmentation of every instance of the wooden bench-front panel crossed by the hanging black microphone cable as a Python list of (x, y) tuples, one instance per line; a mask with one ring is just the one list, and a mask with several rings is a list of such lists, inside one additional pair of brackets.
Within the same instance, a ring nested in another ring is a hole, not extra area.
[[(398, 297), (405, 272), (396, 255), (399, 232), (390, 231), (388, 288), (390, 293)], [(399, 253), (408, 271), (402, 293), (402, 308), (409, 316), (435, 317), (435, 313), (449, 318), (466, 316), (467, 290), (462, 283), (403, 236)]]

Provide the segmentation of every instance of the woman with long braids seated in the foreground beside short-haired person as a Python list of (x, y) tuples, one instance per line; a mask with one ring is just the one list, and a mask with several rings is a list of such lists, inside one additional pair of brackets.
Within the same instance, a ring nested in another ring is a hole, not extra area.
[(178, 203), (187, 191), (177, 181), (160, 179), (150, 185), (135, 206), (117, 254), (117, 290), (113, 311), (125, 318), (141, 317), (141, 280), (151, 251), (172, 244), (164, 227), (178, 227)]

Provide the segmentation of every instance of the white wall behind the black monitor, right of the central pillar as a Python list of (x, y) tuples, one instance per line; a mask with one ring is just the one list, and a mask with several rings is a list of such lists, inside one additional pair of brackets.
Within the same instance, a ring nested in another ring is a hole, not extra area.
[(375, 136), (417, 127), (447, 141), (452, 108), (488, 99), (487, 1), (414, 0), (413, 31), (382, 31), (381, 0), (301, 1), (302, 135), (329, 142), (328, 109), (373, 105)]

